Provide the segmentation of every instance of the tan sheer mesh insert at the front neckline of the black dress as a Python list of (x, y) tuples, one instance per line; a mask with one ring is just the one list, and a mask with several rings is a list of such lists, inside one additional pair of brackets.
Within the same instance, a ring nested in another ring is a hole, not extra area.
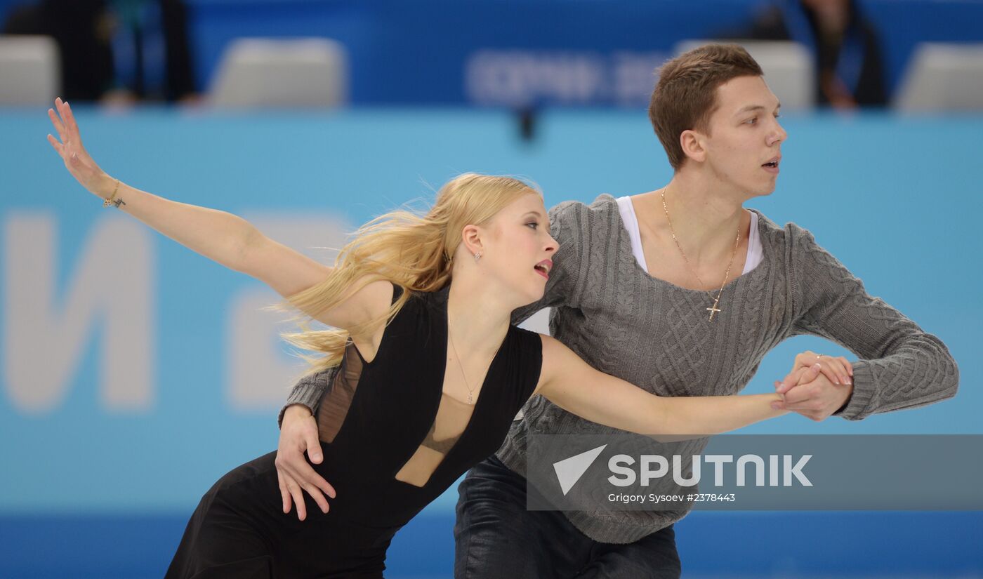
[(396, 480), (414, 487), (427, 485), (440, 461), (464, 433), (474, 409), (470, 404), (442, 394), (434, 425), (410, 460), (396, 473)]

